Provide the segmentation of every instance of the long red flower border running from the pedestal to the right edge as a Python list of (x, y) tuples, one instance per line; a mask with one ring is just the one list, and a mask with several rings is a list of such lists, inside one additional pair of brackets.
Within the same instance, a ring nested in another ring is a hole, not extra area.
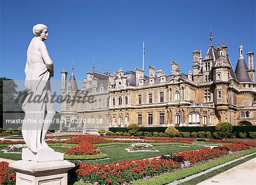
[[(221, 146), (213, 149), (204, 148), (181, 152), (174, 155), (183, 157), (187, 163), (198, 163), (213, 158), (223, 157), (229, 154), (229, 148), (231, 151), (236, 151), (250, 149), (255, 146), (255, 142), (243, 142), (243, 144), (229, 144), (222, 148)], [(78, 163), (76, 173), (78, 180), (88, 183), (123, 184), (167, 173), (181, 166), (185, 166), (184, 161), (176, 162), (172, 159), (168, 160), (161, 158), (119, 161), (113, 162), (110, 165)]]

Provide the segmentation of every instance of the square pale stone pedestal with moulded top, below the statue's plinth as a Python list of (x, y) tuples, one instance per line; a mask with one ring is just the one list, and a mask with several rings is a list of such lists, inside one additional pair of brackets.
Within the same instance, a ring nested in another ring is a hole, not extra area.
[(16, 171), (16, 185), (67, 185), (68, 170), (75, 164), (68, 161), (15, 161), (9, 165)]

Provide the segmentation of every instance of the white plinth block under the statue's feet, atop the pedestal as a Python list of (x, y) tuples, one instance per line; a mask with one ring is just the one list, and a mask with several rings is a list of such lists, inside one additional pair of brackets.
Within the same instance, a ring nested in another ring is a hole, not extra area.
[(30, 149), (23, 148), (22, 160), (35, 162), (63, 161), (64, 154), (52, 150), (38, 150), (37, 153), (33, 153)]

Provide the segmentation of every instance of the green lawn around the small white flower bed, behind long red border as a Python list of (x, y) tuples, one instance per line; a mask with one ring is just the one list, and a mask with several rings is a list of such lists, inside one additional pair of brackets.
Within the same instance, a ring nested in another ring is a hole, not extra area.
[(116, 145), (116, 146), (109, 146), (105, 148), (100, 148), (102, 153), (108, 154), (109, 159), (104, 161), (88, 161), (86, 163), (113, 163), (114, 161), (126, 161), (130, 159), (143, 159), (143, 158), (151, 158), (151, 157), (158, 157), (160, 155), (167, 155), (168, 152), (178, 153), (187, 150), (196, 150), (200, 148), (204, 148), (202, 146), (195, 146), (195, 147), (181, 147), (181, 146), (155, 146), (155, 149), (159, 150), (159, 152), (127, 152), (125, 150), (128, 146), (127, 145)]

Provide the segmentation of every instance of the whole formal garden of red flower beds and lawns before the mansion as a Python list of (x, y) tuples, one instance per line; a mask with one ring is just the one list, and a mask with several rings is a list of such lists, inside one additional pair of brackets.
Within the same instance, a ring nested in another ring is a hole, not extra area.
[[(218, 134), (225, 138), (229, 131), (230, 128)], [(65, 134), (48, 136), (47, 142), (76, 164), (69, 172), (70, 184), (166, 184), (256, 152), (254, 140), (176, 137), (179, 131), (175, 128), (167, 129), (165, 134), (165, 137)], [(0, 157), (19, 160), (21, 153), (16, 152), (25, 147), (23, 141), (0, 141)], [(6, 162), (0, 163), (0, 183), (15, 184), (15, 172)]]

